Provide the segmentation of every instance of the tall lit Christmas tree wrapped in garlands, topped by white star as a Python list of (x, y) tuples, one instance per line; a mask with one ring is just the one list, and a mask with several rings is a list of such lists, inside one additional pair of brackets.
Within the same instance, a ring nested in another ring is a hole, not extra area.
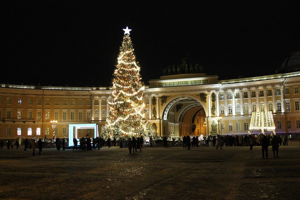
[(136, 62), (133, 44), (128, 27), (125, 31), (118, 56), (117, 69), (113, 73), (112, 100), (110, 116), (102, 128), (102, 137), (108, 135), (120, 138), (125, 135), (145, 135), (145, 87), (141, 81), (140, 67)]

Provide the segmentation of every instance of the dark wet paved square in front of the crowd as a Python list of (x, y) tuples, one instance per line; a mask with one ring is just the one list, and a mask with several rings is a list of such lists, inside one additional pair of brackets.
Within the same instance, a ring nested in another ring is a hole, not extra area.
[[(15, 148), (15, 147), (14, 147)], [(0, 199), (299, 199), (299, 142), (261, 148), (0, 150)]]

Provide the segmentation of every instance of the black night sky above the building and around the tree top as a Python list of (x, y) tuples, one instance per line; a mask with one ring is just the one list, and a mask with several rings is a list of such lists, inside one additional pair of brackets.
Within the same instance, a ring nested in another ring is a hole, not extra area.
[(219, 79), (274, 74), (300, 48), (299, 1), (1, 1), (0, 83), (110, 86), (123, 28), (143, 81), (205, 66)]

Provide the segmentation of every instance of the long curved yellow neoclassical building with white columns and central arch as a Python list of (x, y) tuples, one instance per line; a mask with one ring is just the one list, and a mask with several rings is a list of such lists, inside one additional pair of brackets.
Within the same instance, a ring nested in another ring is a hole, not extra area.
[[(277, 74), (218, 80), (204, 73), (150, 80), (146, 117), (161, 136), (247, 134), (253, 111), (272, 111), (276, 133), (300, 138), (300, 51)], [(69, 125), (97, 124), (109, 115), (110, 88), (43, 87), (1, 84), (0, 139), (68, 137)], [(222, 119), (218, 120), (218, 116)], [(72, 127), (75, 128), (75, 127)], [(77, 137), (91, 133), (78, 129)], [(74, 136), (73, 136), (74, 137)]]

